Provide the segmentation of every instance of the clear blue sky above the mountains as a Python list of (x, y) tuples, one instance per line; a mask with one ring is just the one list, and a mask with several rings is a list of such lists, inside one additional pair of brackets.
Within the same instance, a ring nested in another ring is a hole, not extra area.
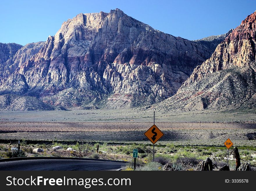
[(79, 13), (109, 13), (115, 8), (165, 33), (196, 40), (237, 27), (255, 11), (256, 1), (1, 0), (0, 42), (25, 45), (45, 41)]

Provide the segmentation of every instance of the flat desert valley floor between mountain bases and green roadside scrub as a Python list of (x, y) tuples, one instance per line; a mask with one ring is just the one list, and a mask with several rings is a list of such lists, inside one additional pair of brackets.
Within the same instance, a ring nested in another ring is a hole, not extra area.
[[(138, 109), (72, 111), (1, 111), (1, 140), (150, 143), (144, 133), (153, 111)], [(164, 133), (157, 144), (256, 146), (254, 110), (164, 112), (155, 124)]]

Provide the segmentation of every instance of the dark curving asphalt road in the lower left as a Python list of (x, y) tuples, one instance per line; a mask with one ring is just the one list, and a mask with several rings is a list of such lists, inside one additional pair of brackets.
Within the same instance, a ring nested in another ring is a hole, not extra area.
[(116, 170), (125, 163), (95, 160), (38, 159), (0, 162), (0, 170)]

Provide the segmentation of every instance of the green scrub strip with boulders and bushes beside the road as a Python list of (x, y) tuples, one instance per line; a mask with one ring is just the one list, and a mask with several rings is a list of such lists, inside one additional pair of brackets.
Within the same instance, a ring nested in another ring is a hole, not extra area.
[[(96, 153), (97, 145), (99, 146), (99, 153)], [(51, 149), (54, 146), (61, 145), (63, 148), (71, 147), (74, 150), (67, 151), (66, 149)], [(33, 153), (34, 148), (48, 147), (42, 153)], [(219, 146), (193, 146), (193, 145), (177, 145), (175, 142), (169, 142), (165, 145), (155, 145), (155, 160), (152, 163), (152, 145), (151, 144), (135, 144), (135, 143), (88, 143), (77, 142), (77, 144), (63, 144), (62, 142), (51, 142), (44, 144), (23, 144), (22, 150), (24, 154), (12, 151), (5, 151), (8, 144), (0, 144), (0, 157), (12, 158), (26, 156), (52, 156), (52, 157), (89, 157), (95, 159), (108, 159), (108, 160), (123, 160), (130, 161), (127, 163), (125, 169), (133, 170), (134, 159), (132, 158), (132, 149), (138, 149), (138, 158), (136, 160), (136, 170), (161, 170), (163, 166), (168, 164), (172, 170), (196, 170), (198, 163), (205, 160), (207, 157), (211, 158), (214, 170), (227, 165), (227, 149)], [(240, 149), (241, 148), (241, 149)], [(9, 147), (10, 149), (10, 147)], [(241, 146), (238, 147), (241, 163), (250, 161), (252, 169), (256, 168), (256, 151), (255, 147)], [(171, 151), (170, 151), (171, 150)], [(31, 152), (32, 151), (32, 152)], [(152, 163), (152, 164), (151, 164)], [(155, 164), (160, 164), (157, 167)], [(147, 165), (149, 164), (149, 165)], [(230, 150), (229, 156), (230, 170), (236, 169), (236, 163), (233, 158), (233, 152)], [(160, 168), (159, 168), (160, 167)], [(159, 168), (159, 169), (158, 169)]]

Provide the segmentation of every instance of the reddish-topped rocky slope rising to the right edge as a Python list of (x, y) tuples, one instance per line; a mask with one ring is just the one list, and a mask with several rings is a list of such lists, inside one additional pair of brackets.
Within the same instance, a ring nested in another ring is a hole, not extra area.
[(155, 108), (181, 110), (255, 108), (256, 11), (230, 33), (173, 97)]

